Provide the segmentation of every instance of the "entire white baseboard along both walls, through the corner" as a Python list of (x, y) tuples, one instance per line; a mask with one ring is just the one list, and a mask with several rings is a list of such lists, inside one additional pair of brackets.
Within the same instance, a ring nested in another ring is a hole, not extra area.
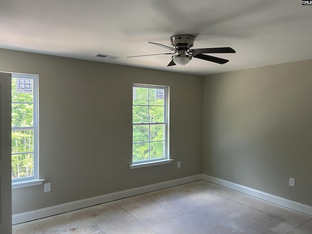
[(68, 202), (68, 203), (64, 203), (64, 204), (60, 204), (56, 206), (39, 209), (39, 210), (12, 215), (12, 224), (18, 224), (18, 223), (28, 222), (31, 220), (44, 218), (44, 217), (48, 217), (52, 215), (58, 215), (61, 213), (74, 211), (74, 210), (98, 205), (98, 204), (105, 203), (105, 202), (115, 201), (115, 200), (126, 198), (129, 196), (135, 196), (135, 195), (153, 192), (153, 191), (160, 190), (160, 189), (166, 189), (166, 188), (194, 182), (194, 181), (201, 180), (201, 179), (221, 185), (229, 189), (233, 189), (235, 191), (238, 191), (247, 195), (260, 198), (265, 201), (272, 202), (280, 206), (290, 208), (298, 212), (312, 215), (311, 206), (307, 206), (307, 205), (304, 205), (304, 204), (301, 204), (292, 200), (288, 200), (283, 197), (267, 194), (267, 193), (264, 193), (264, 192), (261, 192), (261, 191), (258, 191), (258, 190), (240, 185), (240, 184), (235, 184), (227, 180), (216, 178), (214, 176), (199, 174), (195, 176), (188, 176), (188, 177), (183, 177), (179, 179), (164, 181), (161, 183), (151, 184), (151, 185), (142, 186), (142, 187), (138, 187), (134, 189), (123, 190), (120, 192), (106, 194), (106, 195), (90, 197), (87, 199), (82, 199), (78, 201)]

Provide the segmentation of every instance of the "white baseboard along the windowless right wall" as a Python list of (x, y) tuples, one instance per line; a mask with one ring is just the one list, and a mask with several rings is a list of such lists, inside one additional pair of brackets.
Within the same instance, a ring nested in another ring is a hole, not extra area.
[(312, 215), (312, 206), (307, 206), (307, 205), (304, 205), (304, 204), (299, 203), (299, 202), (295, 202), (292, 200), (285, 199), (283, 197), (267, 194), (267, 193), (261, 192), (259, 190), (255, 190), (255, 189), (243, 186), (243, 185), (235, 184), (235, 183), (227, 181), (227, 180), (216, 178), (214, 176), (208, 176), (208, 175), (203, 174), (202, 179), (206, 180), (208, 182), (212, 182), (214, 184), (221, 185), (221, 186), (229, 188), (229, 189), (233, 189), (235, 191), (238, 191), (238, 192), (241, 192), (241, 193), (244, 193), (247, 195), (251, 195), (251, 196), (260, 198), (260, 199), (265, 200), (265, 201), (272, 202), (272, 203), (280, 205), (280, 206), (284, 206), (286, 208), (290, 208), (290, 209), (295, 210), (295, 211), (299, 211), (301, 213), (305, 213), (307, 215)]

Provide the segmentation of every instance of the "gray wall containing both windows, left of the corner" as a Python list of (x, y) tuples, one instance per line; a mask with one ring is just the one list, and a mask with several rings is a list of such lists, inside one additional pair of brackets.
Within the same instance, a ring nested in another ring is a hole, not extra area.
[[(174, 74), (173, 163), (129, 169), (132, 84), (171, 85), (171, 72), (0, 49), (0, 71), (39, 75), (39, 177), (12, 191), (13, 214), (202, 173), (203, 77)], [(181, 168), (176, 162), (181, 161)]]

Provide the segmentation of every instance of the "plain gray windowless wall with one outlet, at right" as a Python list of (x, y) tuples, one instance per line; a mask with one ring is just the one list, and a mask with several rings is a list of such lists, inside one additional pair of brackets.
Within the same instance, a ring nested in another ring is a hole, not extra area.
[(312, 206), (311, 67), (206, 76), (203, 173)]

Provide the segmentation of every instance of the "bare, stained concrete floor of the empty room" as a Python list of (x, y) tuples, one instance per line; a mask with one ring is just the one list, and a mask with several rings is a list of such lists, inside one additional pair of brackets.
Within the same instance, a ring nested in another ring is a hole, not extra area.
[(312, 216), (201, 180), (17, 224), (13, 234), (312, 234)]

